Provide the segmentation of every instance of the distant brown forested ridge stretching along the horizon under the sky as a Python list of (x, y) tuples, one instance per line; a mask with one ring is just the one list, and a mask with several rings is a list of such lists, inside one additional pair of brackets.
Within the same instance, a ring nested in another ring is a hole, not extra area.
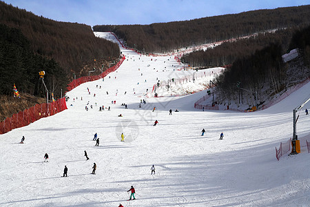
[(265, 30), (308, 26), (309, 23), (308, 5), (150, 25), (94, 26), (93, 29), (112, 31), (124, 39), (127, 46), (142, 52), (164, 52)]

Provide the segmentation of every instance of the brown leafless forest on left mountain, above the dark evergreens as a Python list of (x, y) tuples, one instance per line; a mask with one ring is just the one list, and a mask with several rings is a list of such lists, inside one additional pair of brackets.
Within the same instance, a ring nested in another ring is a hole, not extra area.
[(0, 23), (19, 28), (32, 51), (53, 58), (67, 72), (68, 78), (72, 78), (72, 73), (77, 77), (88, 75), (83, 67), (101, 67), (104, 61), (116, 60), (120, 55), (117, 44), (95, 37), (90, 26), (38, 17), (3, 1), (0, 1)]

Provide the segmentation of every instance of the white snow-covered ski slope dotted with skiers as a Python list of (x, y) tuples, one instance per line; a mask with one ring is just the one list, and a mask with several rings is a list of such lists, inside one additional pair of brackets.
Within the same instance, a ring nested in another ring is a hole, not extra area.
[[(126, 60), (110, 79), (68, 92), (68, 110), (0, 135), (0, 206), (310, 205), (307, 148), (280, 161), (275, 156), (275, 147), (292, 135), (292, 110), (309, 95), (310, 83), (267, 110), (203, 112), (194, 109), (194, 102), (205, 91), (144, 97), (157, 77), (182, 72), (173, 71), (173, 58), (122, 52)], [(141, 99), (146, 104), (138, 108)], [(100, 112), (99, 106), (111, 110)], [(309, 126), (310, 116), (302, 110), (298, 136), (309, 135)], [(205, 136), (200, 136), (203, 128)], [(92, 141), (95, 133), (99, 146)], [(19, 144), (23, 135), (25, 144)], [(49, 162), (43, 162), (45, 152)], [(96, 175), (90, 174), (93, 163)], [(64, 166), (68, 177), (61, 177)], [(134, 201), (127, 201), (130, 186), (136, 188)]]

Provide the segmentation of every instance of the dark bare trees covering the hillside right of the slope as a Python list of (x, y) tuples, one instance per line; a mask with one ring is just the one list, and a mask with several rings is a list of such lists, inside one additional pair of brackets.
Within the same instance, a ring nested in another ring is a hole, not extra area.
[[(240, 88), (258, 92), (258, 106), (269, 97), (310, 77), (310, 26), (292, 34), (289, 50), (299, 48), (302, 63), (284, 63), (282, 45), (271, 42), (252, 55), (239, 57), (216, 78), (216, 95), (220, 102), (238, 102)], [(298, 65), (298, 67), (296, 67)], [(252, 97), (252, 95), (250, 95)]]

